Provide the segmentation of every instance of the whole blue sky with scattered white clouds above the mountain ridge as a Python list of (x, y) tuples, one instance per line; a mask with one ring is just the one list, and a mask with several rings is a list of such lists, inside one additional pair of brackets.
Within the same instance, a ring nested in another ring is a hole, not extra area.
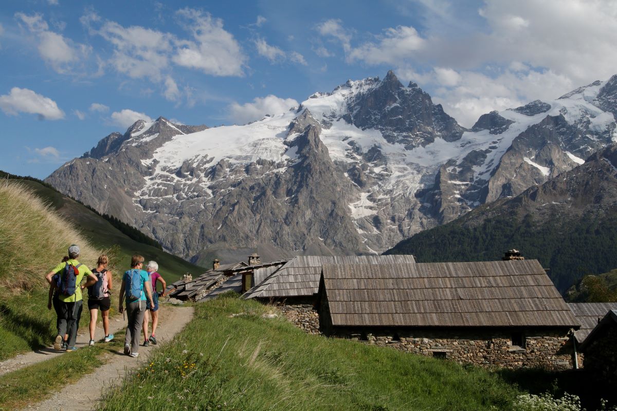
[(390, 69), (471, 126), (610, 78), (615, 44), (608, 0), (4, 0), (0, 169), (44, 178), (138, 118), (241, 124)]

